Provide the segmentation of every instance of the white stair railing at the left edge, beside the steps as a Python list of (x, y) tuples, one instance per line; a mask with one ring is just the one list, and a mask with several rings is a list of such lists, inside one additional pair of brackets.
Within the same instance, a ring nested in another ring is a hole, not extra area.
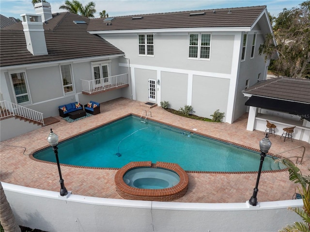
[(0, 101), (0, 118), (2, 119), (10, 116), (20, 116), (44, 125), (43, 113), (12, 102)]

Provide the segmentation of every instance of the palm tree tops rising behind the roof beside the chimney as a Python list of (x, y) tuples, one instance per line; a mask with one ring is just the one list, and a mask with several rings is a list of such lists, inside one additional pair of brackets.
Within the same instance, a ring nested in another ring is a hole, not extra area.
[(94, 17), (94, 13), (96, 13), (95, 9), (96, 4), (93, 1), (87, 3), (84, 7), (82, 3), (78, 0), (65, 0), (64, 4), (59, 7), (59, 9), (69, 11), (73, 14), (82, 15), (84, 17)]

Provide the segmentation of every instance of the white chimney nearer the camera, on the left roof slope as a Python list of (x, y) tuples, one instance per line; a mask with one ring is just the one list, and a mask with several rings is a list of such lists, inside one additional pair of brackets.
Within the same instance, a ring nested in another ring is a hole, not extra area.
[(23, 14), (22, 25), (26, 37), (27, 49), (32, 55), (47, 55), (47, 44), (45, 42), (43, 22), (41, 15)]

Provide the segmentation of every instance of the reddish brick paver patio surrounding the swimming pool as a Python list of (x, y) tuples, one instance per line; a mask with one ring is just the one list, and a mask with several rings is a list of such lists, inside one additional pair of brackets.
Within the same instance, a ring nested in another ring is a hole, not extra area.
[[(105, 124), (128, 113), (141, 114), (143, 110), (151, 111), (152, 118), (168, 124), (183, 127), (186, 130), (197, 129), (207, 136), (229, 140), (243, 146), (259, 149), (259, 141), (264, 137), (261, 131), (247, 131), (247, 114), (233, 124), (209, 123), (180, 117), (155, 107), (125, 98), (119, 98), (100, 104), (101, 113), (91, 117), (67, 123), (61, 117), (60, 122), (44, 126), (24, 135), (2, 141), (0, 144), (0, 180), (20, 186), (59, 191), (59, 174), (56, 164), (32, 160), (28, 154), (48, 145), (47, 136), (50, 128), (60, 140), (75, 136), (90, 128)], [(2, 121), (3, 122), (3, 121)], [(5, 132), (1, 132), (5, 133)], [(309, 174), (310, 144), (303, 141), (287, 140), (280, 136), (270, 136), (272, 147), (270, 153), (276, 154), (297, 146), (306, 147), (302, 165), (297, 165), (303, 174)], [(19, 147), (17, 147), (19, 146)], [(24, 148), (26, 151), (24, 152)], [(302, 155), (302, 148), (282, 154), (285, 157)], [(59, 150), (61, 157), (63, 151)], [(61, 158), (60, 158), (61, 159)], [(295, 159), (292, 159), (295, 161)], [(61, 166), (62, 177), (68, 191), (73, 194), (101, 198), (122, 199), (116, 192), (114, 175), (117, 170), (102, 170)], [(179, 202), (245, 202), (253, 193), (257, 173), (188, 173), (189, 188), (185, 196), (175, 200)], [(290, 200), (295, 185), (289, 181), (287, 171), (262, 173), (258, 201)]]

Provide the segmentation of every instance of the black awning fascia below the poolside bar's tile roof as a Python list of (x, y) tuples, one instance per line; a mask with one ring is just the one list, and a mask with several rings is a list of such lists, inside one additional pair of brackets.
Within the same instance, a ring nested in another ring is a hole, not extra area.
[(278, 100), (273, 98), (251, 96), (245, 103), (246, 106), (272, 109), (299, 115), (310, 121), (310, 104)]

